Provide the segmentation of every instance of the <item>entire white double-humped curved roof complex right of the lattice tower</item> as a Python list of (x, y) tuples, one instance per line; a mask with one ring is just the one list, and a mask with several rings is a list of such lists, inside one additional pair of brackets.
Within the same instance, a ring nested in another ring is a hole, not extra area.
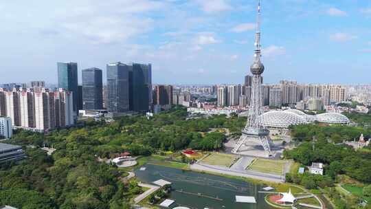
[(263, 124), (266, 127), (287, 129), (291, 125), (306, 124), (309, 122), (325, 122), (333, 124), (348, 124), (350, 120), (340, 113), (322, 113), (319, 115), (307, 115), (297, 109), (285, 111), (268, 111), (263, 113)]

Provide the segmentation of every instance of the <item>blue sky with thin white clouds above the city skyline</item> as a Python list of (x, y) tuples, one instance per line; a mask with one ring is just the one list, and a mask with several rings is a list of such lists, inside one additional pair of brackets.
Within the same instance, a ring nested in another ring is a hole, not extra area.
[[(0, 83), (152, 63), (153, 83), (243, 83), (256, 0), (0, 1)], [(371, 83), (370, 0), (262, 0), (265, 83)], [(79, 78), (80, 79), (80, 78)]]

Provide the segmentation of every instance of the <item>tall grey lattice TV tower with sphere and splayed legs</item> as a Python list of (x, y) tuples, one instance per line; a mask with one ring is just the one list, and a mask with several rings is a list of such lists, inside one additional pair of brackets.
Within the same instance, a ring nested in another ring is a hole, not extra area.
[(262, 73), (264, 72), (264, 65), (262, 64), (262, 50), (260, 45), (260, 0), (258, 0), (258, 17), (256, 21), (256, 34), (255, 34), (255, 51), (254, 63), (250, 67), (251, 74), (253, 74), (251, 84), (251, 104), (247, 118), (247, 124), (242, 131), (240, 140), (232, 150), (232, 153), (238, 153), (241, 146), (250, 142), (258, 142), (264, 148), (267, 157), (272, 157), (271, 147), (269, 146), (269, 130), (265, 128), (262, 123)]

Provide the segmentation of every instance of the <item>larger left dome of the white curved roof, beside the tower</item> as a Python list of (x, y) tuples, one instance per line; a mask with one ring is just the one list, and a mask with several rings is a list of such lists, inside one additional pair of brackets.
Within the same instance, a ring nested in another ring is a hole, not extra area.
[(306, 120), (302, 115), (297, 115), (289, 111), (269, 111), (263, 113), (263, 124), (267, 127), (287, 129), (291, 125), (305, 124)]

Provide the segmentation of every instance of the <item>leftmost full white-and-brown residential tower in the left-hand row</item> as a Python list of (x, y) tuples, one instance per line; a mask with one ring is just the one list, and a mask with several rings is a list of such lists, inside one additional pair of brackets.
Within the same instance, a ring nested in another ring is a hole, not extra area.
[(6, 111), (6, 115), (12, 118), (12, 126), (21, 126), (21, 104), (16, 89), (6, 92)]

